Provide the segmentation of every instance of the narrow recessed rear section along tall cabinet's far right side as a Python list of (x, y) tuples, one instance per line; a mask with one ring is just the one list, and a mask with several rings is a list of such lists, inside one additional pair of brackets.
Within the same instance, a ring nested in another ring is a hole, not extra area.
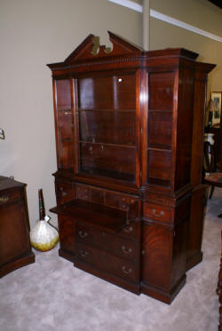
[(191, 212), (188, 223), (186, 270), (202, 261), (202, 228), (206, 205), (205, 186), (202, 185), (202, 158), (206, 111), (206, 91), (208, 73), (214, 65), (195, 63), (194, 74), (194, 117), (192, 135)]

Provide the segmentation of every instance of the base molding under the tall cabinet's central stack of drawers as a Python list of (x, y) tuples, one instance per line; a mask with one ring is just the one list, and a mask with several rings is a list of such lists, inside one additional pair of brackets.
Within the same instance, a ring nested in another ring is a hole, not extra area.
[(83, 270), (83, 272), (89, 272), (93, 276), (99, 277), (101, 280), (106, 280), (109, 283), (117, 285), (120, 288), (126, 289), (136, 295), (140, 294), (140, 284), (133, 283), (131, 281), (123, 280), (115, 275), (108, 274), (107, 272), (99, 271), (93, 268), (90, 264), (85, 264), (82, 261), (75, 259), (74, 266), (78, 269)]

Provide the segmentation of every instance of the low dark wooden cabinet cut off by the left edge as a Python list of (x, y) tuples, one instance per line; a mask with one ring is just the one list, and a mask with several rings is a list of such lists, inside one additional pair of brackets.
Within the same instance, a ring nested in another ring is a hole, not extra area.
[(0, 277), (35, 262), (29, 230), (26, 185), (0, 176)]

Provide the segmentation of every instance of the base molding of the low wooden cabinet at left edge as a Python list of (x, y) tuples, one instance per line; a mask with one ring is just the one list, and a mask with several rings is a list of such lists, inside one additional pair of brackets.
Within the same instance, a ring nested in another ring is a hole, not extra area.
[(21, 268), (22, 266), (26, 266), (28, 264), (34, 264), (35, 260), (36, 259), (34, 253), (29, 252), (25, 256), (20, 256), (19, 258), (16, 258), (15, 261), (0, 266), (0, 278), (9, 272), (13, 272), (16, 269)]

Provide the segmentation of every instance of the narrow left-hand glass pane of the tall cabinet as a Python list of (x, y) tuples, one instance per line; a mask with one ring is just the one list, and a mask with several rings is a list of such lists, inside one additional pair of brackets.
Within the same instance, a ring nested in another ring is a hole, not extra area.
[(53, 90), (58, 169), (73, 169), (74, 121), (69, 79), (55, 79)]

